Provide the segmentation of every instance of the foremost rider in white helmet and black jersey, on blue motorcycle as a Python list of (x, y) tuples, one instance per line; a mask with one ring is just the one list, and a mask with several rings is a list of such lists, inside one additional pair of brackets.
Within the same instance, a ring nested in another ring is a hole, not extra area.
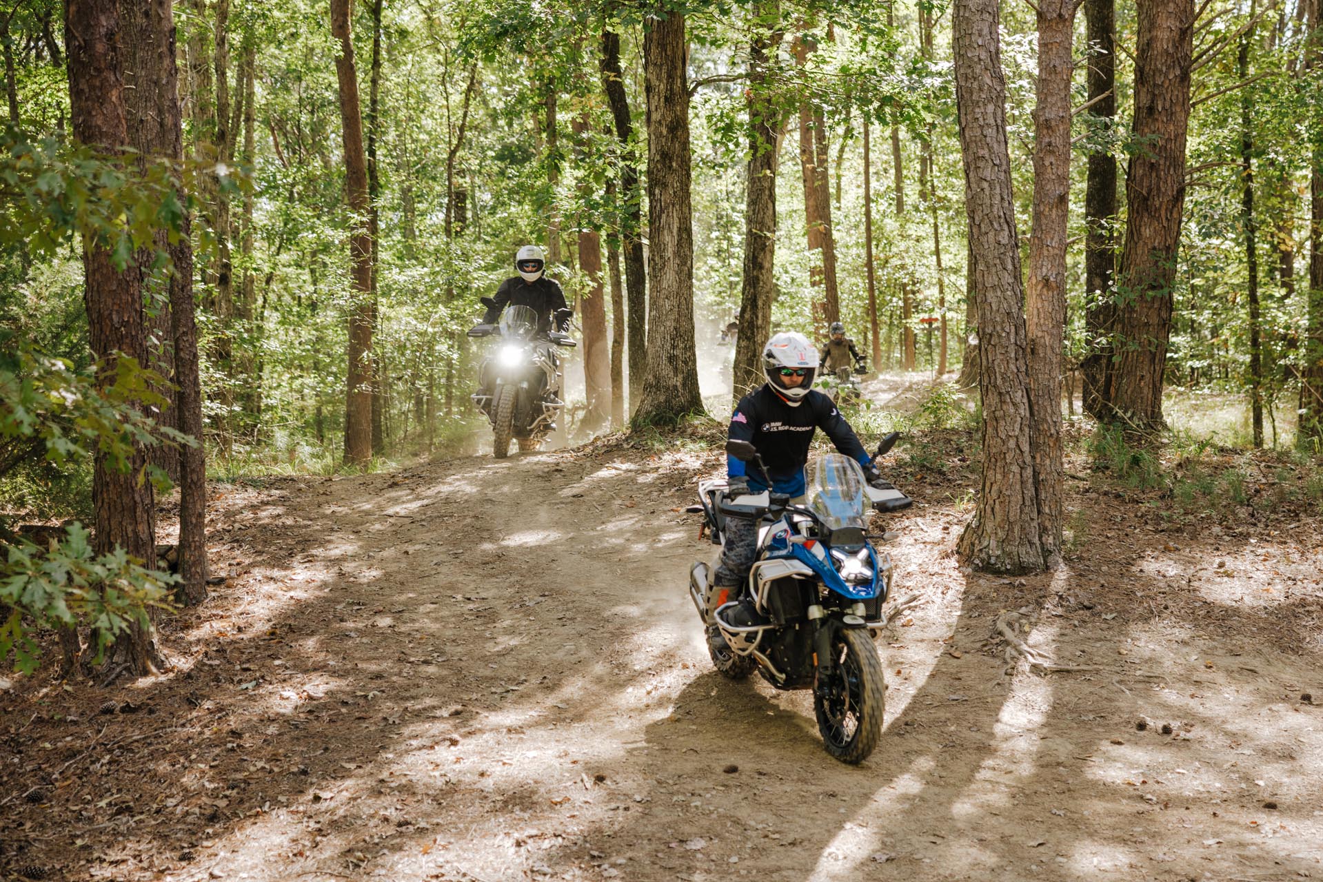
[[(763, 346), (762, 370), (767, 382), (740, 399), (730, 415), (729, 436), (753, 443), (769, 475), (759, 473), (753, 461), (744, 463), (728, 456), (728, 499), (769, 489), (766, 477), (771, 479), (773, 492), (787, 493), (792, 500), (802, 497), (804, 465), (808, 463), (808, 446), (815, 428), (827, 432), (836, 450), (863, 465), (869, 484), (890, 487), (872, 465), (855, 430), (840, 415), (831, 398), (814, 391), (818, 365), (818, 352), (800, 333), (778, 333)], [(728, 599), (742, 600), (741, 608), (726, 616), (732, 624), (746, 627), (761, 620), (753, 599), (740, 598), (757, 554), (758, 522), (728, 516), (721, 562), (713, 573), (712, 583), (718, 598), (726, 590)], [(714, 627), (709, 632), (710, 639), (721, 639)]]

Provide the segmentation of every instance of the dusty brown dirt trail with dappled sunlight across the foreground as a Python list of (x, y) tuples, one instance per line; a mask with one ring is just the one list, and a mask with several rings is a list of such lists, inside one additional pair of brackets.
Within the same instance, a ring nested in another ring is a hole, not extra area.
[[(897, 596), (922, 603), (877, 641), (860, 767), (822, 750), (806, 694), (710, 669), (685, 574), (713, 546), (683, 513), (710, 452), (218, 487), (232, 578), (163, 625), (173, 670), (0, 693), (0, 869), (1323, 878), (1318, 520), (1158, 533), (1076, 481), (1065, 571), (975, 577), (951, 555), (972, 476), (949, 465), (897, 467), (919, 501), (890, 524)], [(1078, 670), (1008, 655), (999, 619)]]

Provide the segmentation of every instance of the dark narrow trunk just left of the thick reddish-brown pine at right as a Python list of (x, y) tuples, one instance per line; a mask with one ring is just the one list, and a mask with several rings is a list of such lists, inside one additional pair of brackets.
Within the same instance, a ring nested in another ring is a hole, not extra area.
[[(1084, 0), (1088, 40), (1095, 53), (1086, 77), (1089, 112), (1107, 120), (1117, 116), (1117, 56), (1114, 24), (1115, 0)], [(1084, 380), (1084, 409), (1094, 419), (1105, 419), (1111, 407), (1115, 376), (1111, 335), (1117, 321), (1113, 290), (1115, 271), (1117, 157), (1111, 149), (1089, 153), (1084, 197), (1085, 239), (1085, 345), (1080, 365)]]

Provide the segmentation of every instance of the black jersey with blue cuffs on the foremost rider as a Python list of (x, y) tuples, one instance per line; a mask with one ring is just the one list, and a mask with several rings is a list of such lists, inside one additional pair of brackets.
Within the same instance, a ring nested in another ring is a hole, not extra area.
[[(836, 450), (860, 465), (872, 463), (855, 430), (840, 415), (831, 398), (820, 391), (811, 390), (798, 407), (791, 407), (769, 383), (763, 383), (741, 398), (730, 415), (730, 438), (751, 442), (767, 465), (771, 489), (791, 496), (804, 492), (804, 464), (808, 463), (808, 444), (815, 428), (827, 432)], [(728, 456), (726, 473), (730, 477), (747, 476), (754, 492), (762, 492), (767, 487), (755, 463), (742, 463)]]

